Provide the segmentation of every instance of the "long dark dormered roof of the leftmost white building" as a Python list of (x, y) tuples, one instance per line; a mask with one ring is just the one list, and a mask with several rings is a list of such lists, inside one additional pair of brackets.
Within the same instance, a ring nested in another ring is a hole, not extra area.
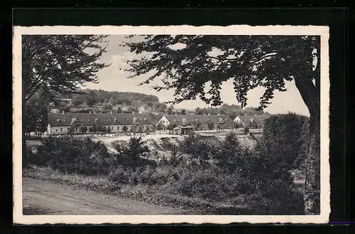
[(149, 115), (132, 113), (50, 113), (48, 115), (48, 123), (52, 126), (70, 126), (75, 119), (78, 119), (84, 125), (117, 125), (133, 124), (133, 118), (141, 119), (141, 124), (153, 123)]

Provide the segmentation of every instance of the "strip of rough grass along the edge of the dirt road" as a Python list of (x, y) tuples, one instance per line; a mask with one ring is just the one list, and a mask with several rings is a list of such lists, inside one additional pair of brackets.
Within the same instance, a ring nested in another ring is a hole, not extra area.
[[(241, 198), (240, 206), (228, 202), (205, 201), (202, 198), (191, 198), (168, 192), (164, 186), (146, 184), (114, 184), (107, 176), (83, 176), (78, 174), (62, 174), (50, 167), (31, 165), (23, 170), (24, 177), (53, 181), (110, 195), (131, 198), (137, 201), (146, 201), (157, 205), (182, 208), (193, 214), (251, 214)], [(244, 203), (244, 205), (243, 205)]]

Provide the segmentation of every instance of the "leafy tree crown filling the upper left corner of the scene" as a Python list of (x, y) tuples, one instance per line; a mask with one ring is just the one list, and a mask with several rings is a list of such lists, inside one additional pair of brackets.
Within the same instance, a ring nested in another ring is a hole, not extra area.
[(40, 87), (47, 91), (76, 90), (86, 82), (97, 82), (99, 63), (105, 52), (105, 36), (22, 36), (22, 79), (25, 100)]

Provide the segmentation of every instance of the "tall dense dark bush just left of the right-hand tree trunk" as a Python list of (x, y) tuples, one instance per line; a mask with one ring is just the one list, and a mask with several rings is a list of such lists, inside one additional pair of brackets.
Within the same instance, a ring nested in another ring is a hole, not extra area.
[(300, 169), (307, 157), (307, 151), (302, 146), (308, 142), (307, 134), (303, 134), (308, 121), (307, 117), (293, 113), (266, 119), (263, 137), (255, 149), (259, 158), (258, 168), (268, 170), (265, 174), (273, 179), (290, 181), (290, 171)]

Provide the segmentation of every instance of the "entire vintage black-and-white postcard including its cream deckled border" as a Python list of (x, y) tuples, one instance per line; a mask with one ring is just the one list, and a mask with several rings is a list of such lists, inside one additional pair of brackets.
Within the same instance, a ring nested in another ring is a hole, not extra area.
[(327, 26), (13, 28), (13, 222), (327, 223)]

